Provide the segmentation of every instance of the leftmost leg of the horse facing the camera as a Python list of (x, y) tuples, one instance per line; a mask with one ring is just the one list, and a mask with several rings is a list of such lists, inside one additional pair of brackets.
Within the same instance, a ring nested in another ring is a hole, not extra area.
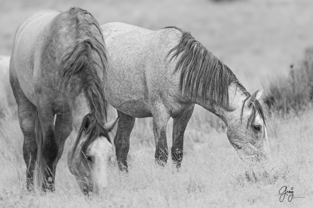
[(35, 138), (35, 115), (37, 108), (27, 99), (17, 79), (11, 77), (10, 82), (16, 103), (18, 104), (18, 120), (24, 136), (23, 157), (26, 164), (26, 184), (28, 191), (31, 191), (33, 190), (38, 149)]

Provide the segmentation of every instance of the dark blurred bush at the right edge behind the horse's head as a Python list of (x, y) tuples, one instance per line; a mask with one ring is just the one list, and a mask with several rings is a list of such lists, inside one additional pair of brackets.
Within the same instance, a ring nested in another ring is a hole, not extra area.
[(272, 80), (264, 96), (270, 112), (283, 114), (305, 109), (313, 101), (313, 48), (305, 51), (305, 57), (297, 66), (290, 65), (287, 77)]

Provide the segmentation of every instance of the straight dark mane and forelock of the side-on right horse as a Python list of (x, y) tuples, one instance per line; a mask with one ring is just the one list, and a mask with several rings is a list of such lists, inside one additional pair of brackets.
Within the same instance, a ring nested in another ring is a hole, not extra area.
[[(169, 61), (178, 59), (173, 74), (178, 71), (181, 73), (180, 93), (184, 90), (184, 94), (191, 93), (191, 98), (197, 99), (200, 90), (204, 102), (208, 100), (226, 108), (229, 106), (228, 86), (231, 83), (234, 83), (247, 96), (247, 99), (251, 96), (229, 67), (214, 56), (211, 51), (208, 51), (199, 41), (195, 40), (190, 32), (174, 26), (165, 28), (174, 28), (182, 33), (179, 43), (166, 56), (167, 58), (172, 54)], [(181, 56), (179, 57), (179, 55)], [(241, 111), (241, 120), (243, 108), (244, 104)], [(258, 112), (264, 121), (263, 109), (259, 101), (255, 100), (251, 108), (252, 114), (248, 124), (250, 121), (254, 123)]]

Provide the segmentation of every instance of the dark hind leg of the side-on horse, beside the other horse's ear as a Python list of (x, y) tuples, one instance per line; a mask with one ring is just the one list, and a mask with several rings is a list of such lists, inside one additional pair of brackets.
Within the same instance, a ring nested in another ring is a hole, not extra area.
[(127, 153), (129, 151), (129, 137), (135, 124), (135, 117), (117, 110), (120, 117), (114, 138), (115, 153), (120, 171), (128, 171)]

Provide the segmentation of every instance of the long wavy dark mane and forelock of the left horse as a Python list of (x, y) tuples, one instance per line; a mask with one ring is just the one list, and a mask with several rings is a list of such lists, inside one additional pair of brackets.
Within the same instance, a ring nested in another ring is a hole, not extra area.
[[(87, 139), (83, 143), (81, 153), (84, 154), (93, 141), (100, 135), (108, 137), (103, 128), (107, 116), (107, 102), (104, 95), (104, 85), (98, 75), (97, 67), (103, 70), (103, 76), (106, 77), (107, 72), (107, 51), (100, 29), (99, 23), (86, 10), (72, 7), (68, 11), (74, 16), (76, 23), (76, 42), (74, 49), (66, 54), (59, 65), (58, 85), (61, 91), (68, 90), (72, 76), (82, 73), (83, 89), (90, 105), (90, 125), (88, 128)], [(99, 30), (101, 39), (97, 39), (91, 27), (95, 26)], [(92, 56), (95, 51), (101, 60), (97, 63)], [(80, 141), (83, 132), (80, 127), (77, 135), (74, 151)]]

